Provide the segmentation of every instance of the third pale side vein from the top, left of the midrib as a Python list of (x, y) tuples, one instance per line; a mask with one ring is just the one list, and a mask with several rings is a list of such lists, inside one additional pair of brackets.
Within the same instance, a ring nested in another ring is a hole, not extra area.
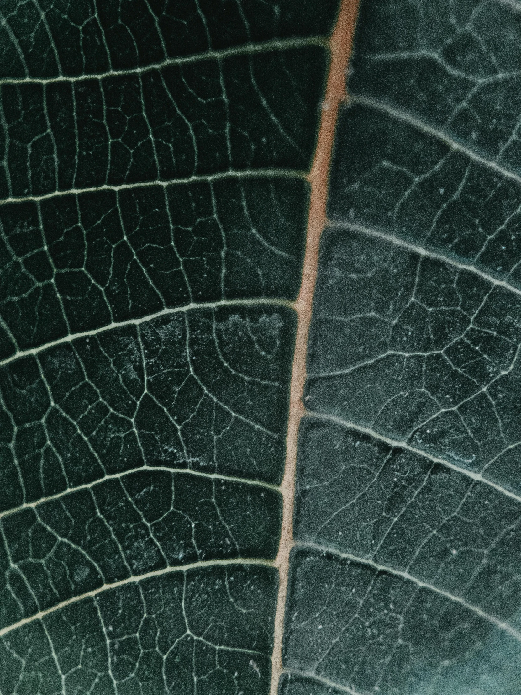
[(122, 328), (125, 326), (137, 326), (140, 323), (145, 323), (147, 321), (152, 321), (155, 318), (160, 318), (161, 316), (169, 316), (172, 313), (186, 313), (187, 311), (197, 311), (203, 309), (220, 309), (233, 306), (284, 306), (286, 309), (293, 309), (293, 302), (290, 300), (280, 300), (271, 299), (270, 297), (258, 297), (257, 299), (244, 299), (244, 300), (219, 300), (217, 302), (191, 302), (190, 304), (185, 304), (185, 306), (173, 306), (168, 309), (161, 309), (161, 311), (156, 311), (156, 313), (147, 314), (147, 316), (141, 316), (140, 318), (129, 318), (124, 321), (114, 321), (107, 324), (106, 326), (101, 326), (99, 328), (93, 328), (90, 331), (83, 331), (80, 333), (72, 333), (63, 338), (56, 338), (56, 341), (51, 341), (49, 343), (44, 343), (43, 345), (37, 345), (36, 347), (29, 347), (27, 350), (17, 350), (15, 354), (0, 360), (0, 367), (15, 361), (16, 359), (21, 359), (22, 357), (28, 357), (31, 354), (38, 354), (43, 350), (48, 350), (49, 347), (55, 347), (56, 345), (62, 345), (63, 343), (71, 343), (77, 338), (85, 338), (88, 336), (95, 336), (99, 333), (105, 331), (110, 331), (116, 328)]

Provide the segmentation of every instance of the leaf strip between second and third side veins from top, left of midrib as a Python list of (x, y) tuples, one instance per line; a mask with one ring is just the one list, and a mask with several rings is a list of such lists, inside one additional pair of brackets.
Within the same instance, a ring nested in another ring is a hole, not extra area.
[(229, 177), (0, 206), (0, 358), (190, 302), (297, 295), (308, 186)]

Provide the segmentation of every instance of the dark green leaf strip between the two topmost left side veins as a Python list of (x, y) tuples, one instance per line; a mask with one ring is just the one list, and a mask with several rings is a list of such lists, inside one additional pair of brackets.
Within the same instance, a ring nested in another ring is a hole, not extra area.
[(307, 170), (326, 51), (210, 58), (139, 74), (3, 84), (0, 197)]

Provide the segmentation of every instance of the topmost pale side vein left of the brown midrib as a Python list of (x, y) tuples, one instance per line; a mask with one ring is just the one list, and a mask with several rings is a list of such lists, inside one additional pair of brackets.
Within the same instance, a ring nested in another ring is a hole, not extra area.
[(55, 82), (78, 82), (81, 80), (102, 80), (106, 77), (117, 77), (119, 75), (135, 75), (151, 70), (161, 70), (169, 65), (187, 65), (190, 63), (200, 63), (203, 60), (223, 60), (233, 56), (252, 56), (265, 51), (286, 51), (292, 48), (306, 48), (308, 46), (318, 46), (327, 48), (328, 40), (322, 36), (309, 36), (306, 38), (285, 38), (271, 39), (268, 41), (259, 41), (258, 43), (249, 43), (242, 46), (221, 49), (217, 51), (206, 51), (206, 53), (193, 54), (191, 56), (179, 56), (178, 58), (167, 58), (160, 63), (150, 63), (143, 67), (130, 67), (126, 70), (109, 70), (108, 72), (98, 72), (83, 75), (60, 75), (58, 77), (18, 77), (18, 78), (2, 78), (0, 85), (3, 84), (49, 84)]

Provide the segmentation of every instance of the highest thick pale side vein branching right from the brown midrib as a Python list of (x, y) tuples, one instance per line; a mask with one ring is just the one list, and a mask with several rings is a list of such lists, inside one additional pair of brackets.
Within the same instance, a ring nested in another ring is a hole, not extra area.
[(506, 179), (511, 179), (512, 181), (521, 184), (521, 177), (519, 176), (519, 174), (516, 174), (512, 170), (506, 169), (506, 167), (497, 164), (497, 162), (495, 161), (487, 159), (486, 156), (479, 154), (479, 152), (476, 152), (474, 149), (471, 149), (467, 145), (463, 145), (463, 142), (458, 142), (457, 140), (454, 140), (454, 138), (452, 138), (449, 135), (449, 133), (445, 132), (443, 129), (436, 128), (436, 126), (430, 125), (429, 123), (422, 121), (420, 118), (416, 118), (411, 113), (407, 113), (406, 111), (402, 111), (402, 109), (390, 106), (390, 104), (386, 104), (385, 101), (381, 101), (380, 99), (374, 99), (373, 97), (363, 97), (361, 95), (349, 96), (349, 104), (361, 104), (362, 106), (373, 108), (375, 111), (386, 113), (386, 115), (395, 118), (396, 120), (402, 121), (412, 126), (414, 129), (431, 136), (432, 138), (436, 138), (436, 140), (443, 142), (454, 152), (459, 152), (460, 154), (463, 154), (471, 161), (476, 162), (477, 164), (481, 164), (484, 167), (493, 170), (493, 172), (497, 174), (501, 174)]

